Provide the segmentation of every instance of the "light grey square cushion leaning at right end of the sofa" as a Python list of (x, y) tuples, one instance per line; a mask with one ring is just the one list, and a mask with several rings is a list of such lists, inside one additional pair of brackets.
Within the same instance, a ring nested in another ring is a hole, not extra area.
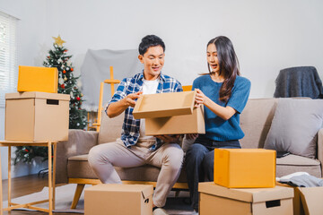
[(314, 159), (323, 122), (323, 100), (279, 99), (265, 149), (289, 151)]

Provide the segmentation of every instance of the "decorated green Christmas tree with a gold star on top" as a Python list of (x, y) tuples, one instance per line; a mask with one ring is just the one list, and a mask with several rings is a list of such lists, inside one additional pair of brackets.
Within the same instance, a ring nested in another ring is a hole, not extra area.
[[(79, 77), (74, 77), (74, 66), (70, 60), (72, 56), (66, 55), (67, 49), (63, 46), (64, 40), (58, 36), (54, 38), (53, 49), (48, 51), (47, 59), (43, 65), (46, 67), (57, 67), (58, 70), (58, 93), (71, 95), (69, 104), (69, 128), (83, 129), (86, 122), (86, 111), (81, 108), (83, 94), (77, 87)], [(15, 150), (14, 164), (20, 160), (31, 162), (35, 157), (48, 159), (48, 148), (38, 146), (19, 146)]]

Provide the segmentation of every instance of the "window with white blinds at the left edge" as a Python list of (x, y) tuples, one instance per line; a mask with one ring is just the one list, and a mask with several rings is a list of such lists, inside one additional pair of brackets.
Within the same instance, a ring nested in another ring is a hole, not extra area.
[(4, 107), (4, 95), (17, 90), (17, 18), (0, 12), (0, 107)]

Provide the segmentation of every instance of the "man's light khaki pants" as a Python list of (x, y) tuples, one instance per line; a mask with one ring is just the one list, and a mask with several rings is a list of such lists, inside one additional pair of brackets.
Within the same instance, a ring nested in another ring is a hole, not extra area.
[(179, 178), (184, 152), (177, 143), (164, 143), (157, 150), (149, 150), (153, 140), (138, 141), (131, 149), (118, 139), (97, 145), (90, 150), (89, 163), (104, 184), (121, 184), (115, 167), (134, 168), (145, 164), (161, 168), (153, 193), (153, 204), (165, 205), (171, 187)]

